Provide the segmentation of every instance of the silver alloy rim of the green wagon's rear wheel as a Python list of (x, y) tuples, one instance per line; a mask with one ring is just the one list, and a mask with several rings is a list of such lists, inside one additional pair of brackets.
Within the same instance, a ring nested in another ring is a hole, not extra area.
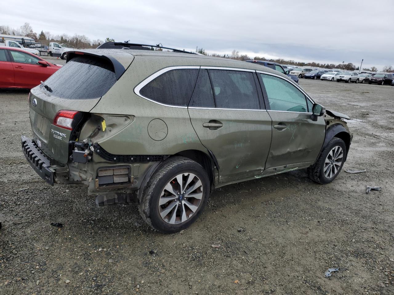
[(179, 224), (197, 211), (203, 198), (203, 183), (193, 173), (175, 176), (162, 190), (158, 209), (161, 218), (170, 224)]

